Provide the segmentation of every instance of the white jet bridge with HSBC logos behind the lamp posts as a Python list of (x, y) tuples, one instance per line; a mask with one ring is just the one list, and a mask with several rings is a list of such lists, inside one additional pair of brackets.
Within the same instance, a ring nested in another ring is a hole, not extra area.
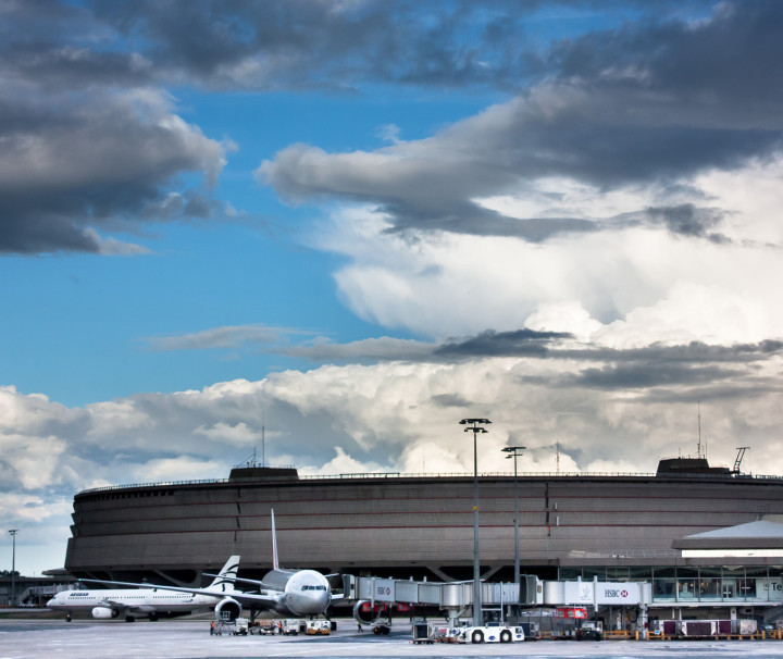
[[(375, 605), (438, 607), (449, 621), (465, 617), (473, 608), (473, 582), (417, 582), (376, 576), (346, 575), (346, 598)], [(639, 607), (646, 619), (652, 588), (648, 582), (545, 581), (525, 575), (520, 584), (482, 583), (482, 610), (507, 607), (601, 606)]]

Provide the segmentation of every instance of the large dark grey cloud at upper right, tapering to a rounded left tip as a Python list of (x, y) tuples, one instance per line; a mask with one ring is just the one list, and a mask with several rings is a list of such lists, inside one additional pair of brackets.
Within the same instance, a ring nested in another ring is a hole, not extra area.
[[(706, 206), (698, 190), (682, 195), (699, 173), (780, 152), (783, 46), (775, 34), (783, 5), (711, 7), (698, 22), (644, 16), (559, 41), (540, 57), (537, 82), (526, 78), (513, 100), (427, 140), (372, 153), (327, 154), (293, 145), (263, 162), (259, 177), (296, 201), (375, 203), (396, 229), (540, 241), (625, 221), (724, 243), (718, 231), (724, 209)], [(577, 181), (597, 194), (676, 189), (680, 198), (593, 224), (567, 215), (505, 217), (475, 202), (523, 198), (543, 178)]]

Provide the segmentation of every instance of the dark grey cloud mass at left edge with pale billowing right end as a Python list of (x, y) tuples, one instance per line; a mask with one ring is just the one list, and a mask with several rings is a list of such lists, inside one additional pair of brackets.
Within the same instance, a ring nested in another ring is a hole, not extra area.
[(38, 87), (25, 97), (32, 86), (10, 84), (16, 102), (0, 104), (0, 252), (133, 252), (96, 229), (216, 212), (187, 190), (178, 210), (163, 209), (178, 175), (214, 178), (226, 150), (175, 117), (166, 95)]

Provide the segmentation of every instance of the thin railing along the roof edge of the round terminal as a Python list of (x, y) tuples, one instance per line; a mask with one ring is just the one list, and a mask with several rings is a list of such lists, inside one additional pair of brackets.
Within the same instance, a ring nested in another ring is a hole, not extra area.
[[(666, 474), (663, 478), (673, 474)], [(513, 478), (513, 472), (482, 472), (478, 474), (482, 478), (487, 477), (508, 477)], [(358, 472), (358, 473), (346, 473), (346, 474), (299, 474), (299, 481), (334, 481), (334, 480), (355, 480), (355, 478), (472, 478), (472, 473), (444, 473), (444, 472), (424, 472), (424, 473), (402, 473), (402, 472)], [(540, 477), (581, 477), (581, 478), (594, 478), (594, 477), (635, 477), (635, 478), (656, 478), (654, 473), (631, 473), (631, 472), (519, 472), (518, 477), (520, 478), (540, 478)], [(688, 478), (693, 480), (709, 480), (720, 478), (725, 480), (726, 476), (723, 474), (688, 474)], [(769, 476), (769, 475), (745, 475), (732, 477), (732, 481), (783, 481), (783, 476)], [(79, 495), (94, 494), (97, 492), (109, 492), (116, 489), (132, 489), (135, 487), (170, 487), (173, 485), (211, 485), (221, 483), (235, 483), (241, 484), (243, 481), (236, 481), (231, 478), (202, 478), (197, 481), (160, 481), (157, 483), (130, 483), (126, 485), (105, 485), (103, 487), (92, 487), (90, 489), (83, 489)]]

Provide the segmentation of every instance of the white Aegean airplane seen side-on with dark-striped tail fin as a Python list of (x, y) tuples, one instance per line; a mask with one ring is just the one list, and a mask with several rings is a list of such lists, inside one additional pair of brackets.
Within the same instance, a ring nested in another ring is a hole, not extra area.
[[(52, 597), (47, 607), (71, 613), (78, 609), (92, 609), (92, 618), (110, 619), (125, 616), (125, 622), (134, 622), (138, 616), (158, 620), (160, 616), (173, 618), (186, 616), (198, 609), (213, 609), (234, 593), (234, 577), (239, 569), (239, 557), (232, 556), (214, 581), (198, 594), (182, 593), (163, 586), (133, 584), (135, 588), (104, 590), (62, 590)], [(98, 580), (82, 580), (92, 582)], [(98, 582), (114, 583), (114, 582)], [(120, 583), (120, 582), (116, 582)], [(124, 584), (127, 585), (127, 584)]]

